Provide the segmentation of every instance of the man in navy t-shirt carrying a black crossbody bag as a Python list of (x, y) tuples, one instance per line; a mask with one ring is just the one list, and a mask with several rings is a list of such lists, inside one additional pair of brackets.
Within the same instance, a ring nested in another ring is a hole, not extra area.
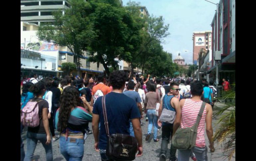
[[(125, 81), (127, 79), (126, 73), (121, 70), (116, 70), (110, 74), (109, 81), (113, 87), (113, 91), (106, 95), (106, 113), (109, 127), (109, 134), (122, 133), (130, 134), (129, 127), (131, 120), (135, 138), (138, 141), (139, 153), (137, 157), (142, 156), (142, 129), (140, 125), (139, 109), (131, 98), (124, 95)], [(109, 160), (105, 155), (107, 147), (107, 134), (104, 124), (104, 116), (102, 112), (102, 97), (99, 97), (92, 110), (92, 129), (94, 135), (94, 149), (100, 152), (101, 159)], [(99, 130), (100, 123), (100, 130)]]

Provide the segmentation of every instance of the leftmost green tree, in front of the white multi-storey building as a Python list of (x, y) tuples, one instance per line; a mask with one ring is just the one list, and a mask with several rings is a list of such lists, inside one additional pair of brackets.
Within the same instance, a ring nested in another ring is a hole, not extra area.
[(40, 25), (37, 36), (40, 40), (53, 42), (60, 46), (67, 46), (73, 53), (74, 63), (76, 64), (78, 75), (80, 74), (80, 57), (83, 51), (95, 37), (92, 30), (93, 22), (89, 14), (92, 12), (90, 3), (84, 0), (70, 0), (70, 8), (62, 12), (54, 12), (53, 25)]

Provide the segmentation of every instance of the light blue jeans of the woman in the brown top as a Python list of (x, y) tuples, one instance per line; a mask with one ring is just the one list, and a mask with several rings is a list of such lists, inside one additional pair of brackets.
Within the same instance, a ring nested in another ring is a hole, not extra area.
[(158, 131), (158, 116), (156, 116), (156, 110), (155, 109), (148, 109), (147, 111), (149, 125), (148, 125), (148, 134), (151, 133), (152, 126), (154, 124), (154, 139), (157, 139), (157, 131)]

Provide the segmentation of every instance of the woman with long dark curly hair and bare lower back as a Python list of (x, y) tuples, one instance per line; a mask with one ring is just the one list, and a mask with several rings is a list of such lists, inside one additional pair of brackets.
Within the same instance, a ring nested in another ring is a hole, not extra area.
[[(85, 106), (89, 112), (84, 108)], [(67, 161), (78, 161), (83, 158), (84, 129), (86, 123), (92, 120), (89, 114), (91, 112), (91, 106), (85, 98), (80, 97), (78, 89), (69, 86), (63, 90), (55, 125), (56, 129), (61, 131), (60, 151)]]

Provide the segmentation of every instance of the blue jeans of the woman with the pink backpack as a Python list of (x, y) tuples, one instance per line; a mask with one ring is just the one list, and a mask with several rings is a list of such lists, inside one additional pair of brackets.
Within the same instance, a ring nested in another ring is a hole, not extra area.
[(46, 133), (34, 133), (34, 132), (27, 132), (27, 154), (25, 155), (25, 161), (31, 161), (34, 155), (37, 141), (40, 141), (45, 148), (46, 152), (46, 160), (53, 161), (53, 148), (52, 142), (49, 145), (46, 145)]

